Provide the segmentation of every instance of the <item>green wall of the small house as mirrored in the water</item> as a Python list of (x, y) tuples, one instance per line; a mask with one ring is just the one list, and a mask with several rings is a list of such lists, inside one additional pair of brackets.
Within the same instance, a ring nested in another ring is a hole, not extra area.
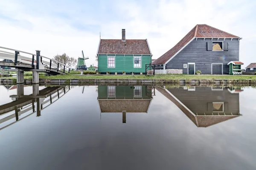
[[(131, 88), (132, 87), (132, 88)], [(116, 88), (116, 99), (136, 99), (140, 97), (134, 97), (134, 86), (130, 85), (118, 85)], [(151, 99), (152, 92), (151, 89), (147, 89), (147, 86), (141, 86), (141, 96), (143, 99)], [(146, 93), (147, 92), (147, 93)], [(99, 99), (108, 99), (108, 86), (107, 85), (99, 85), (98, 86), (98, 96)], [(111, 97), (109, 97), (111, 99)]]

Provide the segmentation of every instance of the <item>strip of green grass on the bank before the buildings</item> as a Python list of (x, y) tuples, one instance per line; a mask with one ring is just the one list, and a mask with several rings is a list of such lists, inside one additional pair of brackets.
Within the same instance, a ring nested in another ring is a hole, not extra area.
[[(233, 75), (187, 75), (187, 74), (172, 74), (172, 75), (156, 75), (156, 76), (145, 76), (145, 75), (57, 75), (57, 76), (44, 76), (39, 75), (40, 79), (238, 79), (238, 80), (256, 80), (254, 75), (244, 76), (233, 76)], [(16, 79), (16, 77), (6, 77), (8, 79)], [(32, 75), (24, 74), (25, 79), (32, 79)]]

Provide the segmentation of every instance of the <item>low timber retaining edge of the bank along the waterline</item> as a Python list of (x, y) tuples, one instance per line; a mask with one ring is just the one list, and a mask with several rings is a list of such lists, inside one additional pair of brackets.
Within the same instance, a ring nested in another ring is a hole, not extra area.
[[(256, 80), (251, 79), (39, 79), (40, 83), (66, 83), (66, 84), (83, 84), (83, 83), (120, 83), (120, 84), (252, 84), (256, 85)], [(16, 84), (16, 79), (0, 79), (0, 83)], [(32, 84), (32, 79), (24, 79), (25, 84)]]

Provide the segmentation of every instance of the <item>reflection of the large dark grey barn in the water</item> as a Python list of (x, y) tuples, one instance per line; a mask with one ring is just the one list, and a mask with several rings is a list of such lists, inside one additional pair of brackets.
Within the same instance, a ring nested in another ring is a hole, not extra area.
[(208, 127), (240, 116), (239, 94), (222, 87), (156, 88), (198, 127)]

